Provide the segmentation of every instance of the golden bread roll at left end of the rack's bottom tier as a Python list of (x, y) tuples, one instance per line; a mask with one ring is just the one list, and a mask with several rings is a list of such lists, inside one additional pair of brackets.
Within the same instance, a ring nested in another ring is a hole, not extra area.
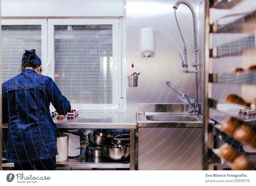
[(224, 143), (219, 148), (219, 155), (220, 158), (233, 162), (239, 154), (228, 143)]

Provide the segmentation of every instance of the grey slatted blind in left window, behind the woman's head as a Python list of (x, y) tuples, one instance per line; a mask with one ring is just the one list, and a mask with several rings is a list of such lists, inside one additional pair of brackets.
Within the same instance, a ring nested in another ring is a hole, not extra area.
[(20, 74), (22, 54), (35, 49), (41, 58), (41, 25), (2, 26), (2, 82)]

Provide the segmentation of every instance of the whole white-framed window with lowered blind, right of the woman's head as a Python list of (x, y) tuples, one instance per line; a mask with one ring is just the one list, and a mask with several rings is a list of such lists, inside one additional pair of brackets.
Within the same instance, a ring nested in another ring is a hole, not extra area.
[(50, 74), (72, 106), (118, 109), (117, 20), (52, 19), (48, 25)]

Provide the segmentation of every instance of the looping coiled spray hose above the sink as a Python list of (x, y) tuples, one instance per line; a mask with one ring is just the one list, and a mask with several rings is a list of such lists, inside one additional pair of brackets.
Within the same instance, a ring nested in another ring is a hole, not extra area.
[[(198, 48), (197, 48), (197, 24), (196, 24), (196, 13), (195, 13), (195, 10), (194, 8), (192, 7), (192, 5), (190, 3), (188, 3), (187, 1), (184, 1), (184, 0), (180, 0), (180, 1), (177, 1), (174, 5), (173, 5), (173, 9), (174, 9), (174, 16), (175, 16), (175, 19), (176, 19), (176, 22), (177, 22), (177, 25), (178, 25), (178, 29), (180, 31), (180, 26), (179, 26), (179, 23), (178, 23), (178, 19), (177, 19), (177, 16), (176, 16), (176, 10), (178, 9), (178, 6), (180, 4), (185, 4), (186, 6), (188, 6), (189, 10), (191, 11), (192, 13), (192, 19), (193, 19), (193, 34), (194, 34), (194, 50), (195, 51), (198, 51)], [(184, 48), (186, 49), (186, 44), (185, 44), (185, 41), (184, 41), (184, 38), (183, 38), (183, 35), (180, 31), (180, 35), (181, 35), (181, 38), (182, 38), (182, 41), (184, 43)]]

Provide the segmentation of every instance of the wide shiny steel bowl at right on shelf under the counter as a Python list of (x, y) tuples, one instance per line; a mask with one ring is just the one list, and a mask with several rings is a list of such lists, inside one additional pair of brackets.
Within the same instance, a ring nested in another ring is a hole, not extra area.
[(114, 143), (103, 146), (103, 153), (108, 159), (124, 160), (130, 155), (130, 144)]

